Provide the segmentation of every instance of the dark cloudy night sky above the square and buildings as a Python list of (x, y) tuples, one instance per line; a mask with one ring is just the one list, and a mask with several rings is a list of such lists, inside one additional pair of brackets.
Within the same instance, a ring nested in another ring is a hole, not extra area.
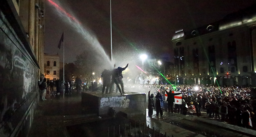
[[(172, 61), (171, 39), (176, 30), (215, 22), (255, 3), (256, 0), (112, 0), (113, 58), (139, 59), (139, 54), (146, 53), (149, 58), (168, 57)], [(110, 55), (109, 0), (61, 0), (60, 6), (88, 27)], [(62, 31), (66, 63), (75, 61), (83, 50), (90, 51), (88, 43), (47, 0), (45, 8), (46, 54), (58, 53), (63, 58), (63, 49), (57, 47)]]

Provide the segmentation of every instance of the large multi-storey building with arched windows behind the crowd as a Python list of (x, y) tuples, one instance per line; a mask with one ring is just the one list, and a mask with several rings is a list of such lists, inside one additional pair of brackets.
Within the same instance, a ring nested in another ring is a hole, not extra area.
[(256, 71), (256, 6), (172, 37), (180, 84), (249, 86)]

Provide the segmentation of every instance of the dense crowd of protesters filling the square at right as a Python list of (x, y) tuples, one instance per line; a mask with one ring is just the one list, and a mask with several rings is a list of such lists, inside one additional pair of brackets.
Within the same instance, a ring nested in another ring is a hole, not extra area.
[[(180, 91), (182, 104), (174, 105), (174, 112), (200, 117), (206, 111), (209, 118), (228, 122), (233, 125), (255, 129), (256, 98), (251, 97), (247, 87), (218, 87), (199, 85), (145, 85), (151, 91)], [(165, 100), (165, 99), (164, 99)], [(165, 108), (165, 105), (163, 105)], [(166, 109), (166, 108), (165, 108)]]

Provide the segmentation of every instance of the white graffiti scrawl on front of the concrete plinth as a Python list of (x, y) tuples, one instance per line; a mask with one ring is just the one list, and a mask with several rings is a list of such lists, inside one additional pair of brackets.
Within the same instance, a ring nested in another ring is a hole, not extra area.
[(125, 96), (113, 96), (113, 97), (105, 97), (100, 100), (100, 108), (102, 107), (120, 107), (120, 108), (128, 108), (130, 100)]

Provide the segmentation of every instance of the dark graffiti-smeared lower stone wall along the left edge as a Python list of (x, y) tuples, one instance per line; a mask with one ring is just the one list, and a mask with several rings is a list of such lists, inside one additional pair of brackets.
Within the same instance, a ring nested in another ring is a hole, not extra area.
[(0, 137), (28, 135), (39, 95), (38, 64), (13, 21), (0, 9)]

